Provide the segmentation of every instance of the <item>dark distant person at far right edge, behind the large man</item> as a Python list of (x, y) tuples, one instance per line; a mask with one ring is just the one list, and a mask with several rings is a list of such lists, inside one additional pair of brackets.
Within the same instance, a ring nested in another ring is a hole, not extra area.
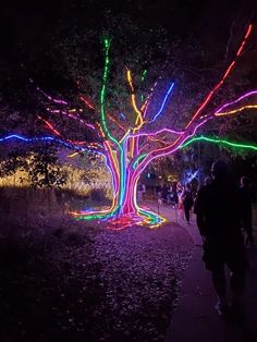
[(249, 179), (241, 178), (240, 198), (241, 198), (241, 222), (246, 233), (246, 245), (254, 245), (253, 223), (252, 223), (252, 192)]

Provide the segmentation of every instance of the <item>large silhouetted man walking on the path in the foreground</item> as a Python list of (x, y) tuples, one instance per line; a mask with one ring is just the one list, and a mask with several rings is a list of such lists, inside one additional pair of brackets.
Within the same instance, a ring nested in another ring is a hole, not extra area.
[[(203, 186), (196, 197), (194, 212), (203, 236), (203, 260), (211, 271), (219, 298), (216, 309), (224, 316), (231, 309), (242, 308), (245, 288), (246, 256), (240, 222), (240, 194), (230, 182), (227, 164), (216, 161), (211, 167), (212, 181)], [(232, 303), (229, 306), (224, 266), (230, 273)]]

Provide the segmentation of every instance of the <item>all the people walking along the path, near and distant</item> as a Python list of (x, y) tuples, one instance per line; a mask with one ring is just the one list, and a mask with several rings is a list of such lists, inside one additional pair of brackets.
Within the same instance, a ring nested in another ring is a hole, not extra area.
[[(203, 237), (203, 260), (211, 272), (218, 295), (216, 310), (221, 317), (242, 309), (248, 267), (245, 246), (254, 246), (249, 180), (242, 176), (238, 188), (231, 179), (227, 164), (219, 160), (195, 195), (191, 184), (156, 187), (158, 204), (170, 203), (179, 211), (183, 210), (188, 224), (191, 213), (196, 215)], [(146, 186), (140, 186), (139, 191), (145, 199)], [(228, 301), (225, 265), (230, 270), (231, 302)]]

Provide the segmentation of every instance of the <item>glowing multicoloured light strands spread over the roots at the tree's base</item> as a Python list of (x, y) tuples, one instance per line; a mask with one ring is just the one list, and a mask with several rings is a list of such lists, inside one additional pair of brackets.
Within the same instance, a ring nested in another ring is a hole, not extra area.
[(155, 229), (167, 222), (164, 217), (139, 207), (137, 211), (130, 213), (119, 213), (118, 210), (105, 213), (102, 211), (73, 211), (71, 213), (76, 220), (106, 222), (107, 229), (110, 230), (122, 230), (132, 225), (144, 225), (149, 229)]

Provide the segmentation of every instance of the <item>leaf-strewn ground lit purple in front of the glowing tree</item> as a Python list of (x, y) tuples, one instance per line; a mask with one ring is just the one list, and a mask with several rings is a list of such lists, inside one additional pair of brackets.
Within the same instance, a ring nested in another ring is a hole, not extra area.
[(163, 341), (193, 247), (182, 227), (12, 230), (0, 235), (1, 342)]

